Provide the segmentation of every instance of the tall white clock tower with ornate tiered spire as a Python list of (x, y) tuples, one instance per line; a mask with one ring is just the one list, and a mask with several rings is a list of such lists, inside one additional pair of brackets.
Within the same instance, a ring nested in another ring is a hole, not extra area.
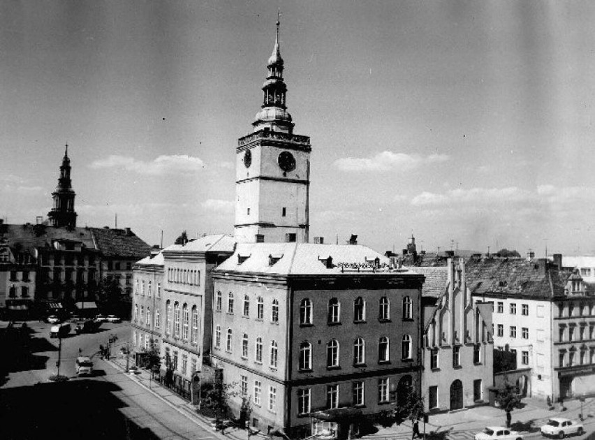
[(277, 38), (267, 62), (263, 105), (236, 149), (235, 238), (240, 242), (308, 242), (310, 138), (293, 133)]

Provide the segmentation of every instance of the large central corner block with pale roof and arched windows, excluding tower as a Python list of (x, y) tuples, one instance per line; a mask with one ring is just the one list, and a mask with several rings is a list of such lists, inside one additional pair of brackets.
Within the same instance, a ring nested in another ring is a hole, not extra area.
[(260, 430), (305, 437), (316, 411), (379, 413), (418, 390), (423, 276), (362, 246), (263, 243), (213, 278), (212, 359)]

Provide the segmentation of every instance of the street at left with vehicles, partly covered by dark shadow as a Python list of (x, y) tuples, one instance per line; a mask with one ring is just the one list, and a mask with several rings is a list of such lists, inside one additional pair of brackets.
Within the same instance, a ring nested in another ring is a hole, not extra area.
[[(48, 381), (57, 373), (59, 340), (50, 339), (47, 323), (29, 322), (29, 327), (31, 353), (6, 362), (8, 376), (0, 390), (3, 439), (214, 438), (99, 358), (99, 344), (105, 346), (110, 335), (118, 337), (112, 355), (126, 344), (128, 323), (103, 323), (96, 333), (72, 332), (62, 339), (60, 374), (71, 378), (62, 383)], [(76, 377), (79, 349), (93, 359), (94, 376)]]

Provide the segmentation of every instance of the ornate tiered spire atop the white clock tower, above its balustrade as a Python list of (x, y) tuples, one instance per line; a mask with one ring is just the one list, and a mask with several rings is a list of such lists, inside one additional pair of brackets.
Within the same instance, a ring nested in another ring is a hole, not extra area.
[(279, 48), (279, 15), (277, 15), (277, 36), (272, 54), (267, 62), (267, 78), (263, 84), (263, 105), (256, 114), (254, 131), (270, 130), (292, 133), (293, 122), (286, 110), (287, 86), (283, 80), (283, 58)]

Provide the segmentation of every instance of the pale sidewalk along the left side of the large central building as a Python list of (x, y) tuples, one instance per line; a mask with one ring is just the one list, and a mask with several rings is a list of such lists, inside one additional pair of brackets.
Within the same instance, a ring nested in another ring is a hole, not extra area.
[[(125, 374), (129, 379), (138, 383), (142, 388), (149, 391), (153, 395), (159, 397), (163, 402), (166, 402), (169, 406), (173, 409), (176, 409), (179, 413), (184, 414), (187, 418), (193, 420), (195, 423), (203, 427), (205, 430), (209, 430), (212, 432), (213, 437), (216, 437), (219, 440), (248, 440), (248, 433), (246, 430), (241, 430), (235, 427), (228, 427), (225, 430), (225, 434), (221, 434), (220, 431), (216, 431), (214, 429), (214, 419), (203, 416), (196, 412), (196, 409), (193, 404), (188, 402), (186, 399), (183, 399), (172, 390), (161, 386), (159, 382), (153, 381), (150, 378), (149, 372), (145, 371), (144, 369), (138, 369), (138, 373), (128, 373), (126, 374), (126, 360), (113, 357), (110, 360), (105, 360), (104, 362), (108, 362), (112, 367), (116, 369), (122, 370), (122, 373)], [(131, 364), (133, 365), (133, 364)], [(250, 437), (254, 440), (262, 440), (262, 439), (270, 439), (270, 437), (263, 435), (263, 434), (256, 434)]]

